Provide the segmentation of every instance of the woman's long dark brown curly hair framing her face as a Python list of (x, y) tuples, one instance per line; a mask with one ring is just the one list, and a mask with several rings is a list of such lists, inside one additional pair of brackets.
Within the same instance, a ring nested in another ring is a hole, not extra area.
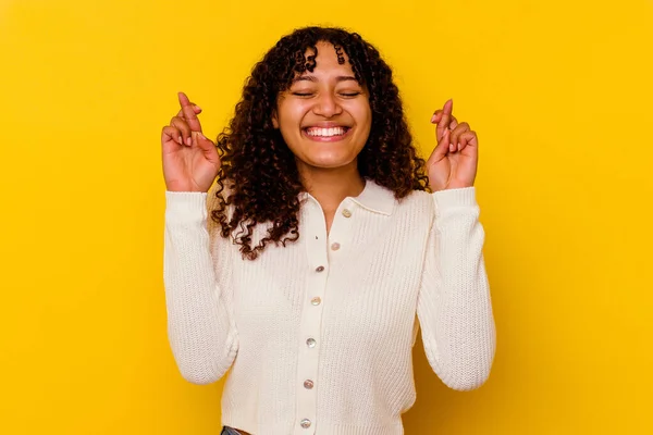
[[(274, 128), (272, 115), (278, 96), (288, 89), (296, 74), (315, 70), (318, 42), (331, 44), (341, 64), (344, 51), (356, 79), (368, 88), (372, 124), (357, 159), (360, 176), (392, 190), (397, 199), (428, 189), (424, 161), (412, 146), (392, 70), (379, 51), (360, 35), (343, 28), (296, 29), (254, 66), (234, 117), (218, 136), (222, 164), (214, 189), (215, 209), (210, 214), (221, 226), (222, 237), (233, 235), (245, 259), (256, 259), (271, 241), (285, 246), (299, 238), (298, 195), (304, 186), (295, 156)], [(229, 194), (223, 194), (225, 188)], [(271, 223), (268, 233), (252, 247), (252, 229), (264, 222)]]

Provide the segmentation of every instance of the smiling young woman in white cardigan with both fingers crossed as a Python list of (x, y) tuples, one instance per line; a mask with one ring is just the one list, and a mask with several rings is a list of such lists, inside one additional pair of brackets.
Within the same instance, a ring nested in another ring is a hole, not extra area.
[(424, 162), (379, 52), (322, 27), (255, 65), (217, 144), (178, 99), (162, 130), (168, 332), (189, 382), (231, 369), (224, 434), (403, 434), (419, 326), (446, 385), (483, 384), (479, 144), (451, 100)]

